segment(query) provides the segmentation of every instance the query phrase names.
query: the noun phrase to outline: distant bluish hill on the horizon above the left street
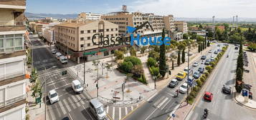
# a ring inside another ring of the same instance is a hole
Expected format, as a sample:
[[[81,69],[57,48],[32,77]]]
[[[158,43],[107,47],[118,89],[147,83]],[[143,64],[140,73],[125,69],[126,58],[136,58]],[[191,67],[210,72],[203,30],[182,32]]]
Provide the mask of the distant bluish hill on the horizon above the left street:
[[[78,14],[33,14],[25,12],[25,16],[29,19],[43,19],[45,17],[52,17],[54,19],[75,19]]]

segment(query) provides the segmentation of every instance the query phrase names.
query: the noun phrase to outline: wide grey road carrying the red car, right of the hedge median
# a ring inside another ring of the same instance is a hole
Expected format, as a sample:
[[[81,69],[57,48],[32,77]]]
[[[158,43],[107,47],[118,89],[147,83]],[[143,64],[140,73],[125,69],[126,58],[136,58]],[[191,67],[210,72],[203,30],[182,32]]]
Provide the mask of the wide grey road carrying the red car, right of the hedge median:
[[[232,86],[234,89],[235,82],[235,69],[237,63],[238,50],[234,50],[233,45],[229,45],[226,54],[229,58],[222,57],[217,64],[217,67],[212,72],[206,84],[206,90],[213,93],[213,101],[208,102],[202,99],[196,101],[196,106],[186,117],[187,120],[202,119],[203,111],[205,108],[209,109],[209,116],[207,119],[234,119],[234,120],[253,120],[256,119],[256,111],[245,108],[238,104],[233,99],[232,95],[222,93],[222,85]],[[226,56],[226,54],[224,56]]]

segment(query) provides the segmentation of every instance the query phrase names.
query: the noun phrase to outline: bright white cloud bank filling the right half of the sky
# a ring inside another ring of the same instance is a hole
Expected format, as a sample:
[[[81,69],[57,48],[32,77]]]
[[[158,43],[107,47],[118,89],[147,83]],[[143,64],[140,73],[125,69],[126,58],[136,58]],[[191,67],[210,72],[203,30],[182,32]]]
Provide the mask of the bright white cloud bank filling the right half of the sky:
[[[255,0],[138,0],[128,8],[131,11],[173,14],[176,17],[256,17]]]

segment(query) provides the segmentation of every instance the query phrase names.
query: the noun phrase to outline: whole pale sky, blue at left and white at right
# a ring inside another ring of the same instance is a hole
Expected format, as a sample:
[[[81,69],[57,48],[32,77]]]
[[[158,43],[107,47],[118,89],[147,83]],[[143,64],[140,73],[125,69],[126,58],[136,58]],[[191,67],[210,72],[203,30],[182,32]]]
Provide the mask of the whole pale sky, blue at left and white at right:
[[[156,15],[173,14],[188,18],[256,18],[256,0],[27,0],[27,12],[42,14],[107,14],[120,11],[141,11]]]

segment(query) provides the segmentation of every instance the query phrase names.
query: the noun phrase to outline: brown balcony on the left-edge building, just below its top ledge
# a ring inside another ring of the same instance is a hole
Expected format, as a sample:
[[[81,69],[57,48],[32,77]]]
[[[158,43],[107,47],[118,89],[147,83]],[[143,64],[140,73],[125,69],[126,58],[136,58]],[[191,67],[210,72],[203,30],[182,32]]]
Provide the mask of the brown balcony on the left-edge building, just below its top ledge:
[[[25,31],[26,21],[0,21],[0,31]]]

